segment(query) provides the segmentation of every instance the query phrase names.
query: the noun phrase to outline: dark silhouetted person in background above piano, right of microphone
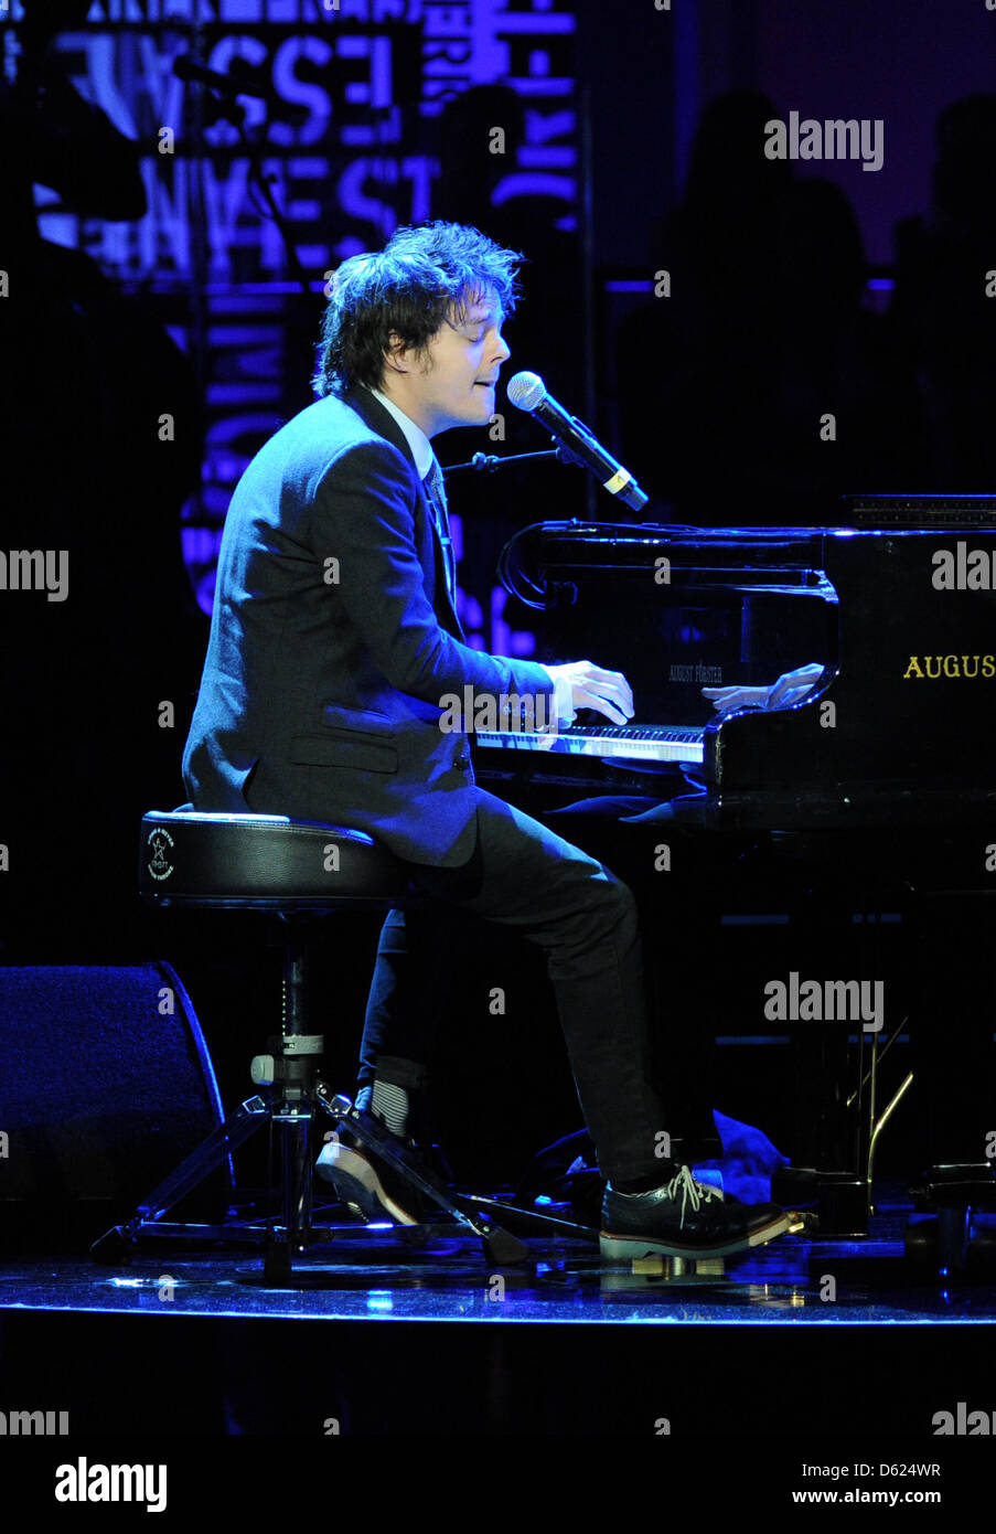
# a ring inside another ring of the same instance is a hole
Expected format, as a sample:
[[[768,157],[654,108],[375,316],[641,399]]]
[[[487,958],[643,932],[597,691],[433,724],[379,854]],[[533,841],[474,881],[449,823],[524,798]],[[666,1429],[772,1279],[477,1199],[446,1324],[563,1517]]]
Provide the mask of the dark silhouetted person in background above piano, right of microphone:
[[[755,91],[706,109],[660,230],[671,296],[619,327],[624,460],[696,525],[835,522],[844,492],[906,477],[915,436],[850,206],[766,158],[777,117]]]

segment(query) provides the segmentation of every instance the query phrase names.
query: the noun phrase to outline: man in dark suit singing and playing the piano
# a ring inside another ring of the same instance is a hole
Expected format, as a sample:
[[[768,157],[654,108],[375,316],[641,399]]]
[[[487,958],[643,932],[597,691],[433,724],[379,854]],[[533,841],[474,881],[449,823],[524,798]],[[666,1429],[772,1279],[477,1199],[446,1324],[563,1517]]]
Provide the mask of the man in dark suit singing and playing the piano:
[[[581,1108],[607,1180],[602,1253],[725,1255],[788,1227],[725,1200],[671,1149],[654,1071],[633,896],[601,862],[475,784],[440,700],[516,693],[561,721],[633,716],[624,675],[544,667],[464,643],[432,439],[486,426],[523,256],[477,229],[398,230],[333,282],[316,388],[245,471],[228,509],[208,653],[184,752],[199,810],[352,825],[432,899],[388,914],[357,1103],[417,1141],[432,1046],[420,965],[435,902],[538,943]],[[438,907],[435,907],[438,910]],[[343,1132],[319,1172],[369,1218],[418,1213],[411,1190]]]

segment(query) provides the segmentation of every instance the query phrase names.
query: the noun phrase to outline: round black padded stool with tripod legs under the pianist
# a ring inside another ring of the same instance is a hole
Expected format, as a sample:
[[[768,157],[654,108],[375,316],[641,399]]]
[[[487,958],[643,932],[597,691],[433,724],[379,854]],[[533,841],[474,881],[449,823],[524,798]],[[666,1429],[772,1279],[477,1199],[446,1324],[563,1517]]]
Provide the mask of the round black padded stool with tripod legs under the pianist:
[[[264,1282],[287,1284],[293,1255],[317,1239],[311,1227],[311,1129],[317,1108],[348,1126],[406,1181],[421,1189],[484,1244],[489,1262],[518,1262],[529,1253],[516,1236],[467,1207],[405,1149],[371,1114],[334,1095],[320,1078],[325,1042],[308,1029],[308,933],[316,917],[340,911],[388,911],[420,897],[405,865],[365,831],[282,815],[213,815],[181,805],[143,816],[138,882],[155,905],[193,910],[267,911],[280,933],[283,1006],[280,1031],[256,1055],[253,1081],[260,1095],[244,1101],[224,1124],[138,1206],[90,1247],[98,1262],[127,1262],[143,1229],[159,1235],[245,1243],[265,1247]],[[165,1215],[224,1158],[264,1124],[277,1131],[282,1212],[265,1229],[247,1226],[165,1226]]]

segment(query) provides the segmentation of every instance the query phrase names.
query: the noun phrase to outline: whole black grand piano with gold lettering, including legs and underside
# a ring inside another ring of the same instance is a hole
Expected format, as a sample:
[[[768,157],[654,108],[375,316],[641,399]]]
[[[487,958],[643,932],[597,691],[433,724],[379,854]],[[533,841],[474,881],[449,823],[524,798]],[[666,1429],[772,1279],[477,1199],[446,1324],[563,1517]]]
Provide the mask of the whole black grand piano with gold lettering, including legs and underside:
[[[481,730],[473,758],[483,787],[556,813],[568,839],[582,841],[572,805],[605,799],[657,845],[697,838],[700,865],[706,848],[729,845],[742,862],[763,845],[786,900],[800,867],[852,911],[906,900],[909,1011],[893,1009],[881,1039],[858,1034],[850,1078],[832,1089],[846,1031],[800,1049],[800,1138],[821,1210],[861,1229],[878,1131],[910,1088],[883,1114],[876,1072],[901,1028],[916,1045],[927,1207],[991,1198],[996,514],[988,497],[847,509],[853,525],[840,528],[524,528],[500,574],[539,615],[535,658],[621,670],[636,713],[625,727],[582,712],[556,733]],[[717,715],[702,692],[814,663],[814,690],[792,707]],[[846,959],[873,962],[867,948]],[[834,1180],[860,1197],[834,1206]]]

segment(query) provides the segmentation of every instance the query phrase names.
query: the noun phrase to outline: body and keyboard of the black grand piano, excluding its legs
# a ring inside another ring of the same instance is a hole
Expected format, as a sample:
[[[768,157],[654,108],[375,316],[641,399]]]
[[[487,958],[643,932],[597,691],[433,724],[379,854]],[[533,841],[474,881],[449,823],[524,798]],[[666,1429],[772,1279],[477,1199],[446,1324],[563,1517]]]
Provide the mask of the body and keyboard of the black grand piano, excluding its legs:
[[[636,716],[588,713],[552,738],[483,732],[477,746],[599,762],[602,785],[611,770],[682,764],[703,792],[680,813],[717,828],[987,824],[996,595],[935,584],[958,580],[959,545],[976,588],[976,552],[996,584],[996,528],[527,528],[503,574],[544,614],[536,658],[622,670]],[[945,551],[952,566],[935,565]],[[716,716],[702,695],[812,661],[823,678],[791,709]]]

